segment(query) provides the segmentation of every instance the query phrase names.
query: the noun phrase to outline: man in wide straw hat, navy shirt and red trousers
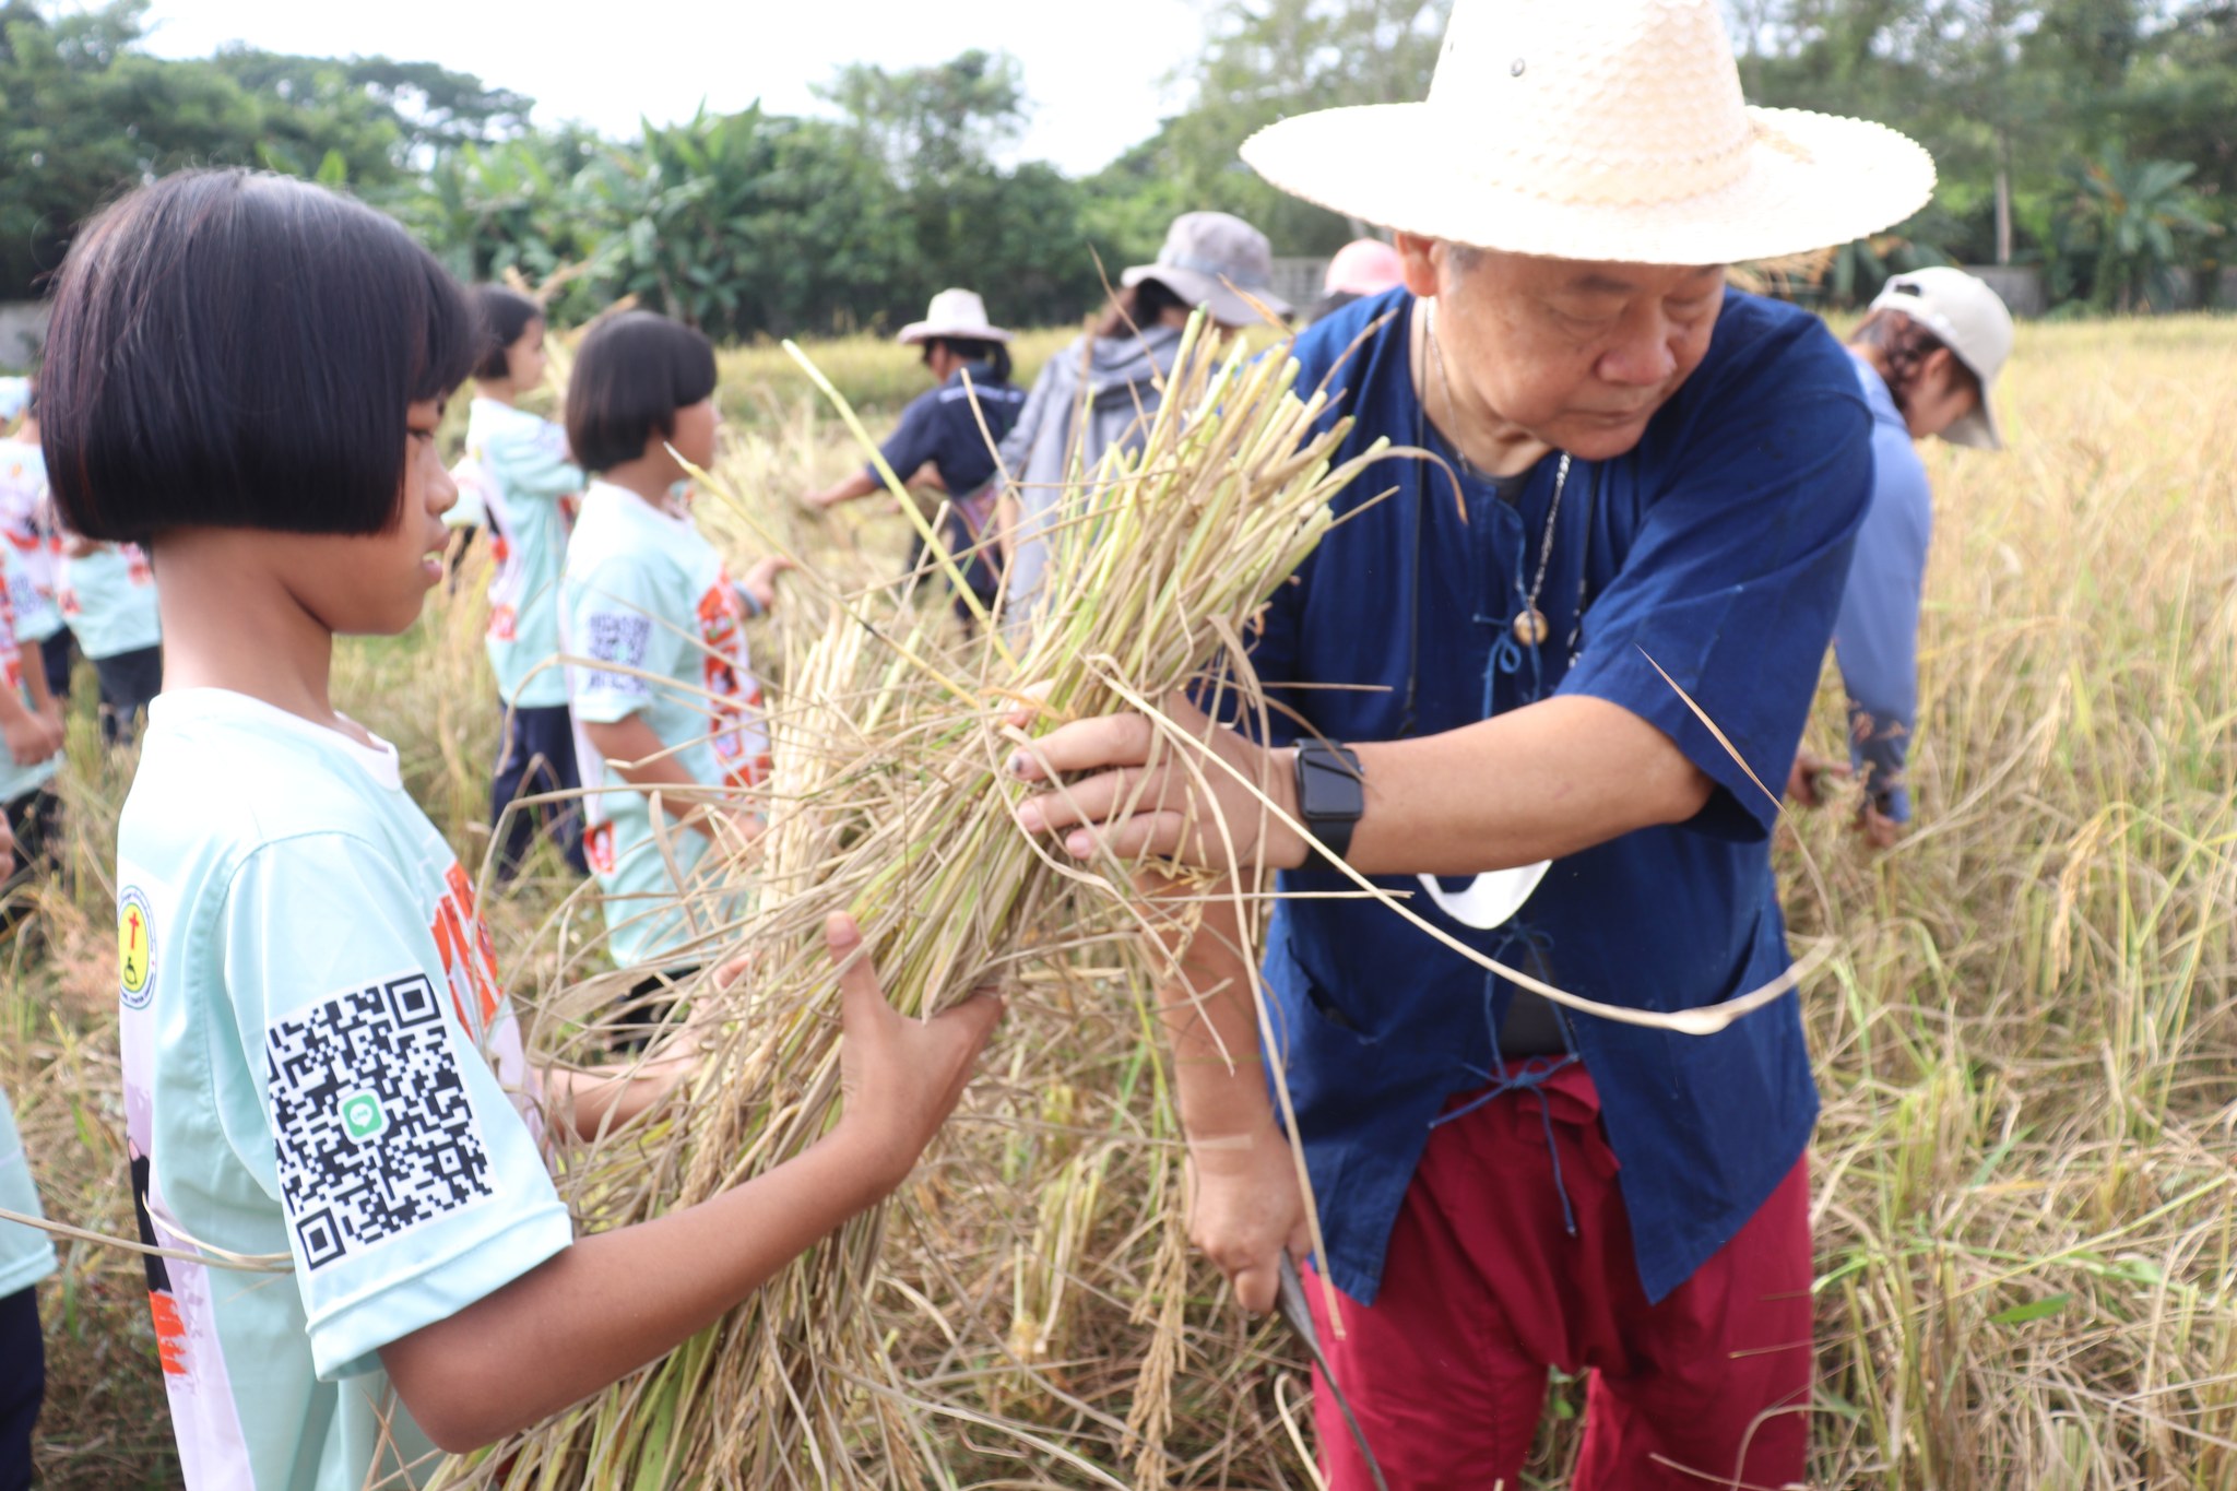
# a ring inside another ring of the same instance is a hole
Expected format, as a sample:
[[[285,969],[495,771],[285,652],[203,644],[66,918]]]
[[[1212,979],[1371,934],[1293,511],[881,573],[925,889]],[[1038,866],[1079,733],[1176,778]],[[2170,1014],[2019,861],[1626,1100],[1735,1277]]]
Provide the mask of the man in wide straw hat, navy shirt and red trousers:
[[[1221,814],[1304,892],[1266,934],[1264,1037],[1338,1294],[1306,1292],[1389,1484],[1519,1484],[1548,1368],[1593,1373],[1577,1487],[1796,1482],[1816,1093],[1799,1001],[1772,997],[1765,785],[1816,686],[1872,420],[1825,329],[1722,266],[1884,228],[1933,163],[1747,107],[1716,0],[1459,0],[1427,103],[1291,118],[1244,159],[1396,230],[1405,288],[1304,333],[1300,382],[1342,391],[1344,454],[1429,456],[1353,483],[1268,604],[1271,738],[1195,715],[1280,816],[1121,715],[1018,758],[1092,773],[1027,823],[1217,867]],[[1327,894],[1351,881],[1322,852],[1622,1019]],[[1163,993],[1190,1227],[1264,1310],[1309,1209],[1264,1073],[1224,1055],[1262,1026],[1237,919],[1206,905]],[[1716,1035],[1662,1019],[1749,990],[1769,1001]],[[1371,1484],[1329,1399],[1329,1480]]]

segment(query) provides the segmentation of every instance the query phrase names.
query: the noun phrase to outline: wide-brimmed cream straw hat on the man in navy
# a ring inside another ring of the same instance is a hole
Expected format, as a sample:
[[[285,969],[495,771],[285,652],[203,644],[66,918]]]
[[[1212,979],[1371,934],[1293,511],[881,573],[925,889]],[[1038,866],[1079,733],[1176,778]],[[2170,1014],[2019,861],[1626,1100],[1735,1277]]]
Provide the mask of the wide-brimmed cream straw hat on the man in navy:
[[[1454,0],[1427,103],[1300,114],[1242,154],[1362,221],[1622,264],[1848,244],[1935,186],[1886,125],[1747,107],[1716,0]]]

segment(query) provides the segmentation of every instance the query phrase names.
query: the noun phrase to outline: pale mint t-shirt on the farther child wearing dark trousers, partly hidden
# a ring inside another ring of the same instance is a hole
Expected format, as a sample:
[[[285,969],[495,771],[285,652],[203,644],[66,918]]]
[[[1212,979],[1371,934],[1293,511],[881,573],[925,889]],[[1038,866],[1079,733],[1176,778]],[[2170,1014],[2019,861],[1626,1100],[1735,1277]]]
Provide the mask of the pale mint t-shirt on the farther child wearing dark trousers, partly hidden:
[[[559,570],[566,563],[564,498],[582,492],[582,472],[566,458],[566,431],[550,420],[476,398],[465,416],[468,487],[490,525],[490,671],[497,697],[517,709],[566,704],[559,657]]]

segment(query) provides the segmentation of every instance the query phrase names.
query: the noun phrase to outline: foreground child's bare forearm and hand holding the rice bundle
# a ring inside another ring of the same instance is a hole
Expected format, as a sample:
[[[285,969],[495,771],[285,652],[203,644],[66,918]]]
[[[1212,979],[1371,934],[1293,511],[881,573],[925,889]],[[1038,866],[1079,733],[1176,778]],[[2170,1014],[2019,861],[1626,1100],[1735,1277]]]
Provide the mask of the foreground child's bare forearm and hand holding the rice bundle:
[[[899,1187],[962,1095],[1000,1015],[980,995],[928,1022],[879,990],[855,923],[825,928],[841,966],[839,1127],[812,1149],[685,1212],[582,1238],[380,1361],[452,1453],[537,1424],[714,1323],[839,1223]],[[535,1364],[535,1370],[521,1370]]]

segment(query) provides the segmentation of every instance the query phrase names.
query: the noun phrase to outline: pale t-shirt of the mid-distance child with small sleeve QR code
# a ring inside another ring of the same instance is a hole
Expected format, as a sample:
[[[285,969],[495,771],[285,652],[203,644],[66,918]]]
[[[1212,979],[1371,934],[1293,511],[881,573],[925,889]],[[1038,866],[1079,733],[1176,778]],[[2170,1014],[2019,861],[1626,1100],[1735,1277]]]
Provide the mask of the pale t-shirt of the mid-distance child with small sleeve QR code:
[[[582,726],[640,715],[696,782],[763,780],[770,731],[745,648],[745,601],[689,512],[660,512],[593,481],[568,539],[564,606],[568,655],[586,664],[568,668],[568,704],[593,789],[584,854],[604,892],[608,950],[622,968],[698,963],[689,943],[702,925],[680,910],[678,892],[696,887],[707,838],[667,823],[662,854],[651,798],[606,767]],[[673,798],[669,818],[691,807]]]

